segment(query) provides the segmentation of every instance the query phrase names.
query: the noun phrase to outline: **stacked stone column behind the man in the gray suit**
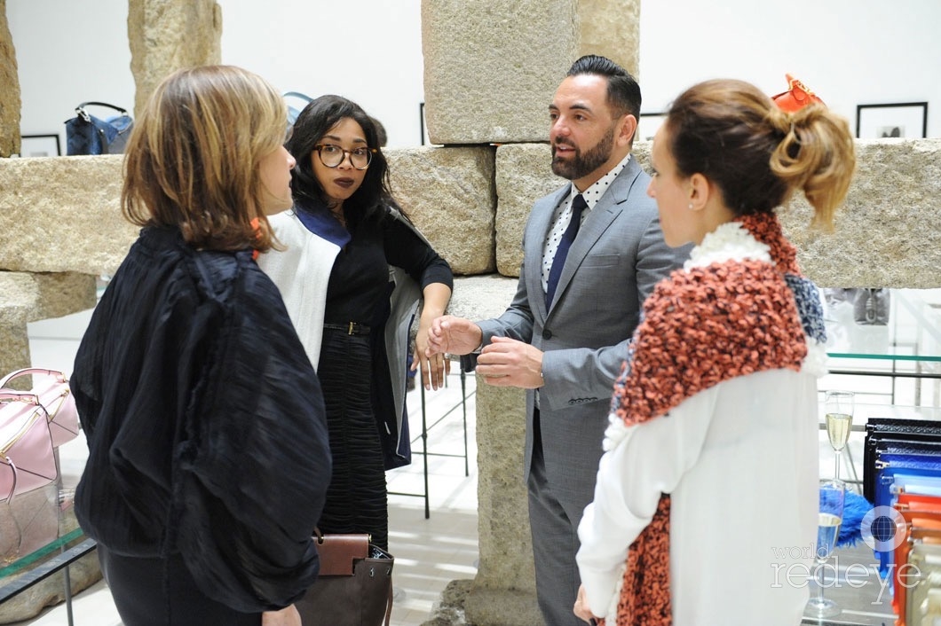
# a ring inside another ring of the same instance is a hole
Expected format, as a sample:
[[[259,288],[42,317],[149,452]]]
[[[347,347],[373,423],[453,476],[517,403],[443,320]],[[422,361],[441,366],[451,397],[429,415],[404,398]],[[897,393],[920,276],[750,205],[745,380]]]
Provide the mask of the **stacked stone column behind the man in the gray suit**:
[[[572,61],[605,55],[636,73],[639,18],[640,0],[423,0],[429,138],[445,145],[547,141],[548,105]],[[551,176],[545,145],[497,150],[494,249],[501,274],[518,275],[533,202],[563,182]],[[458,289],[455,300],[463,301]],[[464,603],[477,626],[542,623],[522,484],[524,398],[519,390],[477,386],[480,567]]]

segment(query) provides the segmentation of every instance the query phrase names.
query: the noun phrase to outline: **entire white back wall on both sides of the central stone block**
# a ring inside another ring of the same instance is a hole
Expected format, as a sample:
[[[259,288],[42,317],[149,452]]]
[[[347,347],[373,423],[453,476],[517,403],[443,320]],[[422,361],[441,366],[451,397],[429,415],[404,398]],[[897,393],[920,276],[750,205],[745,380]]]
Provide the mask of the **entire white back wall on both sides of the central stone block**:
[[[346,96],[383,121],[391,147],[419,143],[421,0],[218,2],[224,63],[282,91]],[[61,133],[85,100],[133,107],[126,0],[7,0],[7,13],[22,133]],[[774,94],[790,72],[853,128],[857,104],[927,101],[928,134],[941,136],[939,26],[938,0],[643,0],[644,109],[718,76]]]

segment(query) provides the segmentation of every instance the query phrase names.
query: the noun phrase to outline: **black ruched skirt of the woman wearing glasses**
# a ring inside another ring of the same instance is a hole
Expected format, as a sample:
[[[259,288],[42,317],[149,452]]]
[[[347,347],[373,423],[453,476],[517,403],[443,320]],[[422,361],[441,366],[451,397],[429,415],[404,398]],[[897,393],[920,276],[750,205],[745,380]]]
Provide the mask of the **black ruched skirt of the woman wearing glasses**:
[[[317,524],[324,533],[369,533],[389,549],[386,470],[371,399],[368,335],[324,329],[317,377],[327,405],[333,474]]]

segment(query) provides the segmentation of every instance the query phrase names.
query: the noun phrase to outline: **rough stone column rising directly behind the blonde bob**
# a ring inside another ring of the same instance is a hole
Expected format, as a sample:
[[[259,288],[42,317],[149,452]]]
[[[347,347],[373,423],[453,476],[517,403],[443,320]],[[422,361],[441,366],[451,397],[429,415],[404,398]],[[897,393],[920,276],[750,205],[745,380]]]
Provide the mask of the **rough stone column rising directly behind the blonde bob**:
[[[215,0],[129,0],[127,35],[139,113],[167,74],[222,58],[222,8]]]

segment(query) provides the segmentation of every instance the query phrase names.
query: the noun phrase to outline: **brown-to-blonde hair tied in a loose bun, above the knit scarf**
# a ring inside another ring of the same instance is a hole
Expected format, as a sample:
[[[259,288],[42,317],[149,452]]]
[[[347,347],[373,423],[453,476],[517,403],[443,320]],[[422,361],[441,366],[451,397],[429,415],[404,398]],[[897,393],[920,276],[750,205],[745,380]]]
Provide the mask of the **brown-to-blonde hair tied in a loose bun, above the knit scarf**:
[[[717,79],[680,94],[665,123],[678,173],[703,174],[736,215],[774,211],[801,189],[814,226],[833,227],[856,157],[849,123],[825,105],[786,113],[756,86]]]

